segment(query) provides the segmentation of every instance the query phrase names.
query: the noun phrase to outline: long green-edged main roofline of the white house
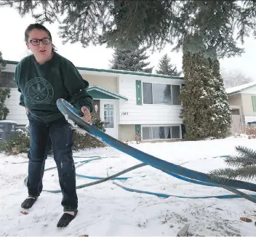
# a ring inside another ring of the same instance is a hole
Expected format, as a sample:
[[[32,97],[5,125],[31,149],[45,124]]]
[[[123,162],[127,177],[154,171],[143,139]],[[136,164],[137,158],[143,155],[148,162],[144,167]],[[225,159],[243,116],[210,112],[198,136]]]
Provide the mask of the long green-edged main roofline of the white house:
[[[19,63],[17,61],[9,61],[9,60],[4,60],[4,61],[7,64],[13,64],[13,65],[17,65]],[[81,67],[76,67],[76,68],[78,70],[82,70],[82,71],[98,71],[98,72],[104,72],[104,73],[129,74],[129,75],[137,75],[137,76],[153,76],[153,77],[161,77],[161,78],[165,78],[165,79],[181,79],[181,80],[183,80],[183,77],[180,77],[180,76],[168,76],[168,75],[143,73],[143,72],[136,72],[136,71],[122,71],[122,70],[113,70],[113,69],[81,68]]]

